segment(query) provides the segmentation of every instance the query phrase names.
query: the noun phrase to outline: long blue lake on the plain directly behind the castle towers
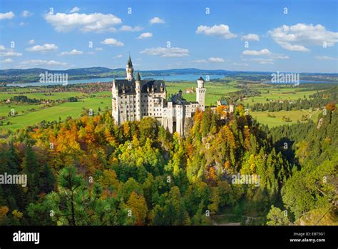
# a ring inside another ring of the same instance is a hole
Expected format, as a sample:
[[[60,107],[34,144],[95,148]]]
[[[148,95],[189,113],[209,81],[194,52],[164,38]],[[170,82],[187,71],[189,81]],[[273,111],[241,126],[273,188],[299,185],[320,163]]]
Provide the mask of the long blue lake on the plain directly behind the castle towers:
[[[142,79],[146,78],[153,78],[153,79],[163,79],[165,81],[197,81],[198,78],[202,76],[204,79],[207,75],[197,75],[197,74],[177,74],[177,75],[167,75],[167,76],[144,76]],[[209,74],[208,75],[211,79],[216,78],[224,78],[225,75],[220,74]],[[78,83],[96,83],[96,82],[110,82],[113,81],[114,78],[88,78],[88,79],[81,79],[81,80],[71,80],[68,81],[69,85],[78,84]],[[123,79],[123,78],[116,78],[116,79]],[[41,82],[34,82],[34,83],[9,83],[6,84],[7,86],[53,86],[53,85],[62,85],[62,83],[41,83]]]

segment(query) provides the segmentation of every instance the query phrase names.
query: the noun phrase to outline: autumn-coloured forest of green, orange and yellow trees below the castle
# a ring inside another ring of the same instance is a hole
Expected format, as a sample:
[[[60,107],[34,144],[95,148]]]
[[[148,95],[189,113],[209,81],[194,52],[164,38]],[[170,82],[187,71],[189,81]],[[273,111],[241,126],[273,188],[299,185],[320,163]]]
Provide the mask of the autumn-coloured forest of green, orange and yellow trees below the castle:
[[[0,173],[25,173],[28,185],[0,185],[0,224],[338,224],[333,107],[320,126],[271,130],[243,106],[222,115],[196,113],[186,138],[152,118],[116,126],[108,111],[3,131]],[[259,184],[237,184],[237,173]]]

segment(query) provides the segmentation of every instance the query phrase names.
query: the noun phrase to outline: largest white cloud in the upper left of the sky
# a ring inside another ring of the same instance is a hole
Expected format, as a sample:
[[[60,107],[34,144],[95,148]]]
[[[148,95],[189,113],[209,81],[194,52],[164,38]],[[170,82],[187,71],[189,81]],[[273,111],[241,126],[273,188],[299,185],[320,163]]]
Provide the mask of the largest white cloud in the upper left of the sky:
[[[114,32],[116,28],[114,27],[116,24],[121,24],[122,21],[118,17],[113,14],[102,14],[102,13],[94,13],[94,14],[65,14],[65,13],[57,13],[46,14],[46,21],[50,23],[56,31],[66,32],[71,31],[73,29],[78,29],[83,33],[87,32]]]

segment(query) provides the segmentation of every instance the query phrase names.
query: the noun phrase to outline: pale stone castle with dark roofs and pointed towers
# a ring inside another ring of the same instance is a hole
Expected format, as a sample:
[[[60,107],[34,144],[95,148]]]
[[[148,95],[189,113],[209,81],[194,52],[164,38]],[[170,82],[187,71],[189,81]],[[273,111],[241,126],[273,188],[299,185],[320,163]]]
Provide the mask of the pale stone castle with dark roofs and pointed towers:
[[[112,93],[112,116],[116,124],[126,121],[140,121],[143,117],[152,117],[170,133],[178,132],[185,136],[193,121],[197,108],[205,111],[205,87],[202,77],[198,78],[196,101],[186,101],[182,91],[170,96],[163,80],[143,79],[140,73],[133,77],[133,63],[128,59],[126,79],[114,79]]]

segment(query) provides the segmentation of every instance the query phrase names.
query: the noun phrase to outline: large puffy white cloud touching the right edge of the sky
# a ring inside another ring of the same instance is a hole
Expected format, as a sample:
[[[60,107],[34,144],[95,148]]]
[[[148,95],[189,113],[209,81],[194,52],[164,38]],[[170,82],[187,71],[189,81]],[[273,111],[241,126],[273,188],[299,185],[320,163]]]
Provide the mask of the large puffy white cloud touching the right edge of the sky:
[[[283,25],[268,31],[275,43],[290,51],[307,52],[307,46],[334,46],[338,42],[338,32],[327,31],[321,24]]]

